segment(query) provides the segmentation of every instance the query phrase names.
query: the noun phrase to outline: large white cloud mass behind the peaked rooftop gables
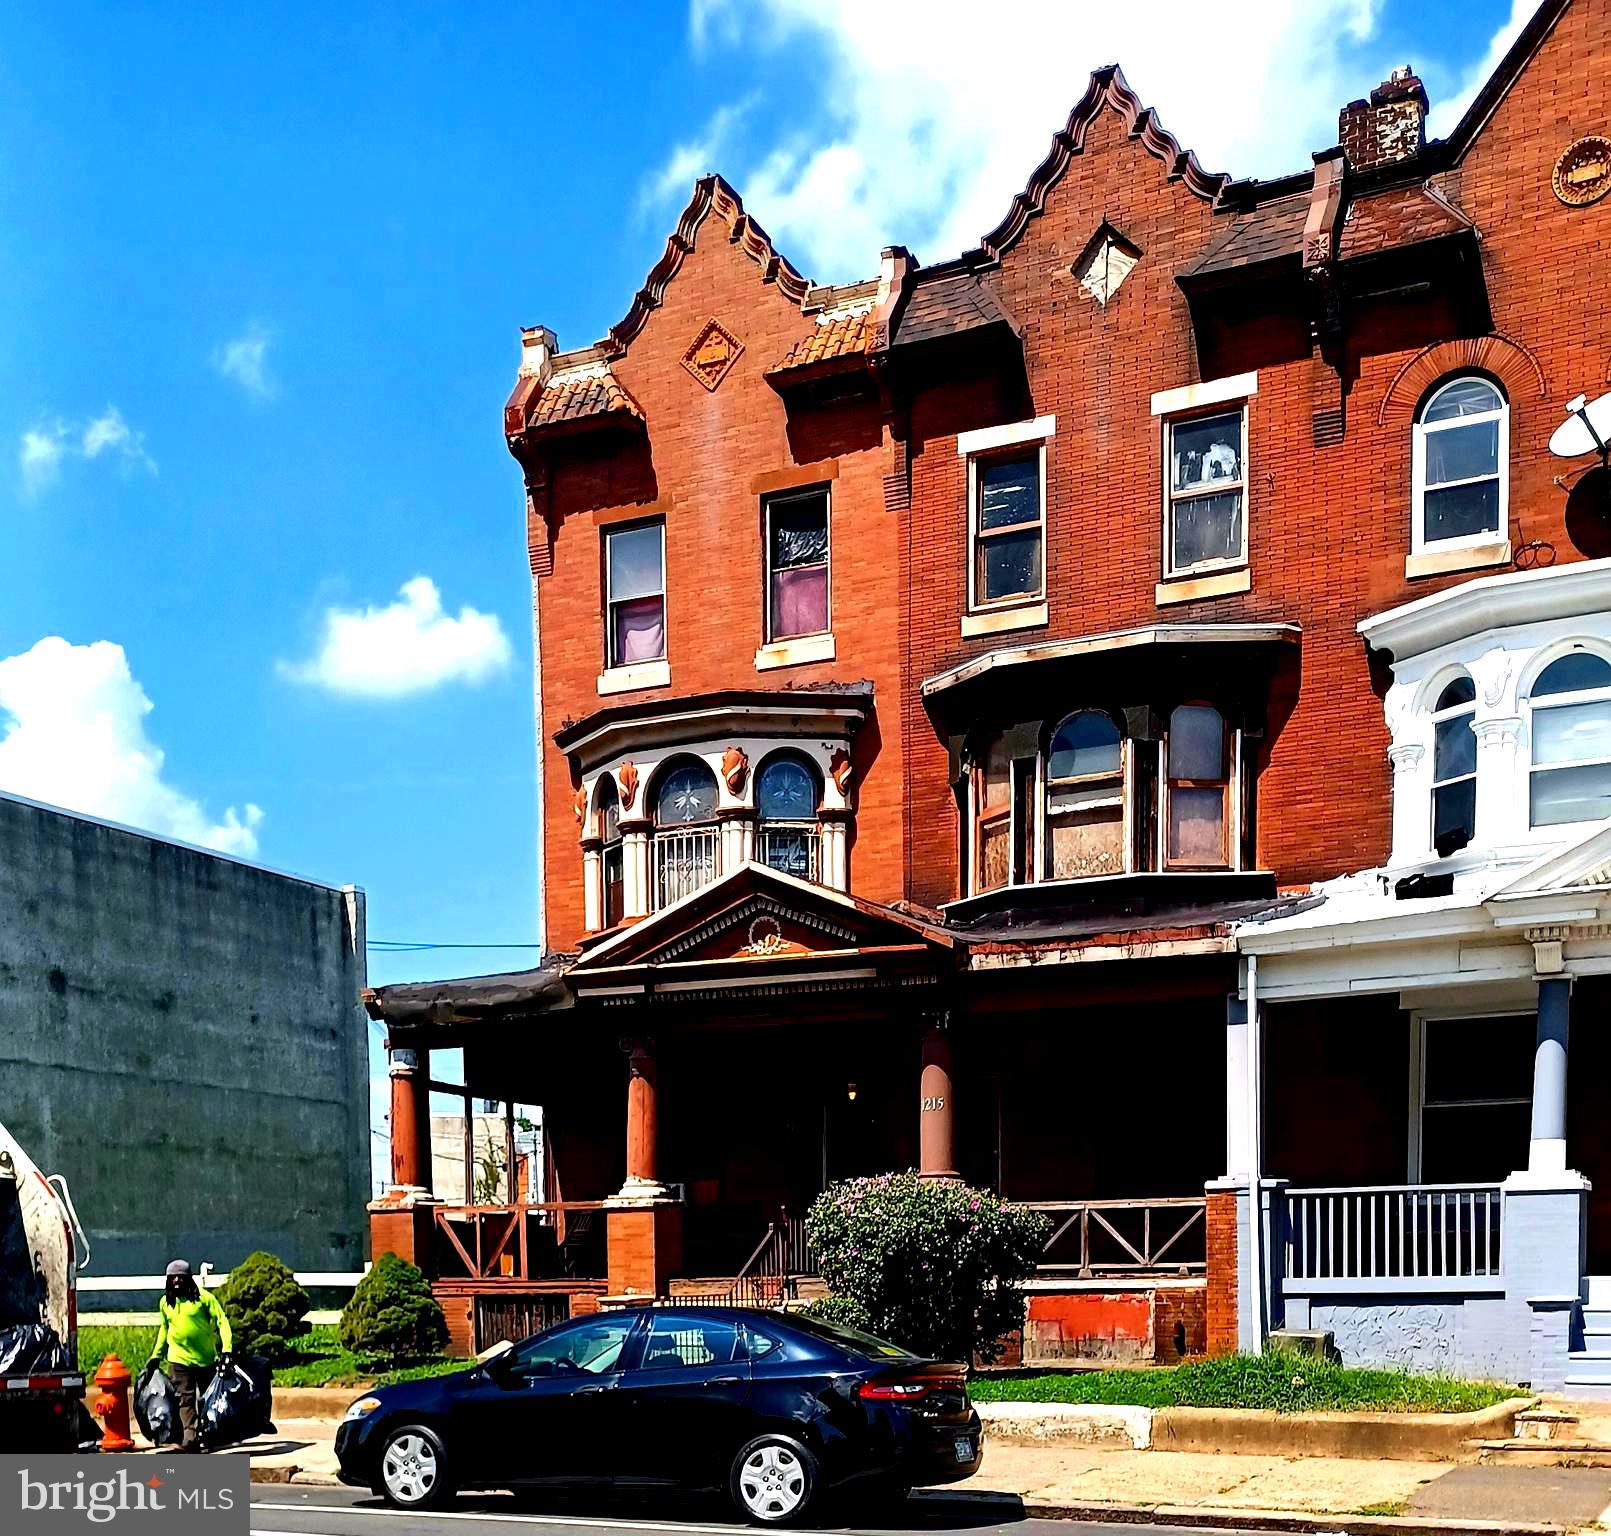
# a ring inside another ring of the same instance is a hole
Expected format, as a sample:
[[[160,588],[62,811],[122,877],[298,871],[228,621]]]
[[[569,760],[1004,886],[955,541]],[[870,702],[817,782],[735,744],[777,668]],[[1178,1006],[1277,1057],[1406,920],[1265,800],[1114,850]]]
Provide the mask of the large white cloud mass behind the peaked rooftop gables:
[[[872,276],[891,242],[925,261],[975,245],[1105,63],[1124,66],[1207,169],[1303,169],[1311,150],[1336,142],[1339,106],[1385,73],[1361,56],[1376,10],[1377,0],[999,0],[981,24],[973,0],[693,0],[690,27],[696,47],[810,60],[802,77],[825,103],[826,129],[785,131],[728,176],[783,250],[812,276],[843,280]]]

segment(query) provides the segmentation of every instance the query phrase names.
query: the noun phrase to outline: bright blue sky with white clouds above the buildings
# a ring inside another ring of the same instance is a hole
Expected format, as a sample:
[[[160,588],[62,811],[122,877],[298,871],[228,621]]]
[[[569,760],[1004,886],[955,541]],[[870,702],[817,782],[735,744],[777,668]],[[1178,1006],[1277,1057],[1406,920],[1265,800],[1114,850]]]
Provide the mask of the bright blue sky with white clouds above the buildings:
[[[1394,64],[1447,131],[1530,5],[1097,10],[8,6],[0,787],[535,938],[519,326],[594,340],[704,169],[814,277],[952,255],[1112,58],[1239,176]]]

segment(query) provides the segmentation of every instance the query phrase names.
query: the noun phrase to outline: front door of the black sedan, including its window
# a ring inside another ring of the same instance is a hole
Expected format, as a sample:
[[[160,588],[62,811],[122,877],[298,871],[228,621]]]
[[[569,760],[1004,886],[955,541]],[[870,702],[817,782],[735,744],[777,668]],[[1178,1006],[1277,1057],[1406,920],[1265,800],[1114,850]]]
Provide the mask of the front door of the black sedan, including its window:
[[[593,1480],[611,1475],[635,1314],[609,1314],[549,1328],[499,1355],[472,1386],[449,1446],[466,1481]]]

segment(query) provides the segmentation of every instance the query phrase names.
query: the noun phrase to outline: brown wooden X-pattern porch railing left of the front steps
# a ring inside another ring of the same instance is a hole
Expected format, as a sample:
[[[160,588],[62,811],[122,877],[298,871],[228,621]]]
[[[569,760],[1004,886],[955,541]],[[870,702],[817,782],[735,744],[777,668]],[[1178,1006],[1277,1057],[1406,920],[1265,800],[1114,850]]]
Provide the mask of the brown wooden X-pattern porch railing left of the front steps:
[[[603,1201],[438,1206],[440,1278],[603,1278]]]

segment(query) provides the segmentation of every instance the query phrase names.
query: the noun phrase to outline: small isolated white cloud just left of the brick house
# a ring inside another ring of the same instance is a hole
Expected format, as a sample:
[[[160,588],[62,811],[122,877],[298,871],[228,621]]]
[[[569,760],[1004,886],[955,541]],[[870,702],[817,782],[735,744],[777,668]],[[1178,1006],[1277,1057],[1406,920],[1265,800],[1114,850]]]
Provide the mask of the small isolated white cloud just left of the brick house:
[[[359,698],[401,698],[443,683],[478,683],[509,666],[496,614],[461,608],[453,617],[429,575],[403,583],[385,608],[330,608],[308,661],[280,662],[300,683]]]

